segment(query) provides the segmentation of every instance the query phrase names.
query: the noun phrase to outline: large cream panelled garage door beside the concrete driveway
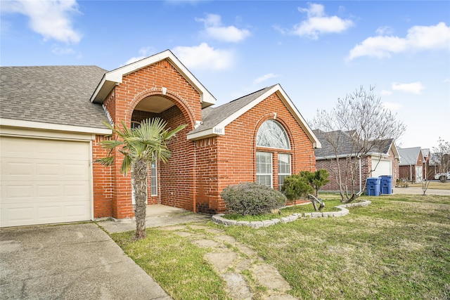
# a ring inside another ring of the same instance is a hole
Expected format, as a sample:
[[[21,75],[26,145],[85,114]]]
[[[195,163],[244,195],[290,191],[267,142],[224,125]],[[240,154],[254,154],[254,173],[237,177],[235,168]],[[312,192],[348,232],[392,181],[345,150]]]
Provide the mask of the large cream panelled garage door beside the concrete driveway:
[[[0,136],[0,227],[91,219],[90,144]]]

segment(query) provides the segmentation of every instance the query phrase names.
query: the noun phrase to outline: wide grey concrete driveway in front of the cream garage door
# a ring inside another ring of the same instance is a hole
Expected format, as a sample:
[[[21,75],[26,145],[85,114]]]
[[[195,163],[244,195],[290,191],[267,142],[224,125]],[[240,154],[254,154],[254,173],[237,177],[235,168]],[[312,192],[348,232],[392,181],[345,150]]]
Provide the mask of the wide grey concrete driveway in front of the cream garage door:
[[[2,228],[0,299],[172,299],[95,223]]]

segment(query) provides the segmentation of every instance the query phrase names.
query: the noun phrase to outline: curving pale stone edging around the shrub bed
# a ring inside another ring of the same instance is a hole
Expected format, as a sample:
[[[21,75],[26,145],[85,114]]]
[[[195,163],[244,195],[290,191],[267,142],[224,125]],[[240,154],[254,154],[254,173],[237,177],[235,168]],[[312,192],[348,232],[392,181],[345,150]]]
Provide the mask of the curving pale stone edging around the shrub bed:
[[[349,210],[347,209],[347,207],[367,207],[368,204],[371,203],[372,202],[369,200],[364,200],[364,202],[340,204],[336,207],[340,209],[340,211],[326,211],[326,212],[315,211],[300,214],[295,213],[291,214],[290,216],[283,216],[280,219],[270,219],[264,221],[236,221],[222,218],[222,216],[224,216],[225,214],[214,214],[214,216],[212,216],[212,221],[214,223],[222,224],[224,226],[248,226],[251,228],[261,228],[272,226],[278,223],[289,223],[297,219],[304,219],[304,218],[328,218],[331,216],[347,216],[347,214],[349,214]]]

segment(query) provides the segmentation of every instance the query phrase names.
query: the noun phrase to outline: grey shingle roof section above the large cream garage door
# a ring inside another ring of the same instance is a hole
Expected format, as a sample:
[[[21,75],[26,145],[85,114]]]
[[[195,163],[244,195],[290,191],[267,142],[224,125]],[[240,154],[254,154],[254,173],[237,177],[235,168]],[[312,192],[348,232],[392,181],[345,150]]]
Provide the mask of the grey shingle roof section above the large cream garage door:
[[[110,132],[101,123],[108,120],[101,105],[89,101],[106,72],[100,67],[0,67],[0,72],[2,125]]]

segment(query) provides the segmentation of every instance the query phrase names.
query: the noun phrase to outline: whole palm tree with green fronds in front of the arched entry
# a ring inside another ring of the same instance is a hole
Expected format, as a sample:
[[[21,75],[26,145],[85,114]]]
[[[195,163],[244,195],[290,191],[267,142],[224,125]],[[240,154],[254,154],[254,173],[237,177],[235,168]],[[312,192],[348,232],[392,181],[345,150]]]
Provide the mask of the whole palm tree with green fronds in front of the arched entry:
[[[110,149],[107,157],[96,159],[96,162],[104,166],[110,166],[114,162],[113,150],[120,147],[119,152],[124,155],[120,173],[127,174],[131,171],[133,178],[134,200],[136,207],[134,215],[136,217],[136,239],[146,237],[146,200],[148,185],[148,165],[153,161],[166,163],[171,152],[167,148],[167,141],[174,137],[176,133],[186,127],[181,125],[169,131],[165,129],[167,123],[160,118],[147,119],[141,122],[139,127],[128,129],[122,122],[122,128],[111,126],[104,122],[117,138],[113,141],[102,141],[103,148]]]

